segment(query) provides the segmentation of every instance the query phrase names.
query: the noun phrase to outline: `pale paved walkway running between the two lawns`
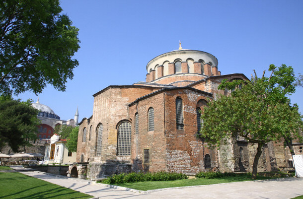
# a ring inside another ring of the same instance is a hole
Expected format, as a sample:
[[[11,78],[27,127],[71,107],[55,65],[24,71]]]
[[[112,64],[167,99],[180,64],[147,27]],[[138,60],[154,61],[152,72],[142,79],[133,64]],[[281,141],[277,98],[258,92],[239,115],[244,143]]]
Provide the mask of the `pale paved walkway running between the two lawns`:
[[[265,181],[169,188],[140,194],[109,188],[102,184],[92,184],[88,180],[58,177],[39,171],[24,170],[17,166],[11,167],[25,175],[101,199],[290,199],[303,195],[303,178],[281,178]]]

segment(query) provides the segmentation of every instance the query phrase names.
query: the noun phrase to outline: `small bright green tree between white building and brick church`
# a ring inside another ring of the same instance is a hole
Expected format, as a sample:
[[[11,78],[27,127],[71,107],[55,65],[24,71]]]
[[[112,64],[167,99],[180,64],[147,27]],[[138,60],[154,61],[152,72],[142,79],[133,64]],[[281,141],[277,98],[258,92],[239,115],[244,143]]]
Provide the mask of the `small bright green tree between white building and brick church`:
[[[55,128],[55,132],[61,136],[63,139],[67,139],[67,147],[69,151],[76,152],[77,151],[77,143],[78,143],[78,131],[79,127],[73,126],[57,126]]]

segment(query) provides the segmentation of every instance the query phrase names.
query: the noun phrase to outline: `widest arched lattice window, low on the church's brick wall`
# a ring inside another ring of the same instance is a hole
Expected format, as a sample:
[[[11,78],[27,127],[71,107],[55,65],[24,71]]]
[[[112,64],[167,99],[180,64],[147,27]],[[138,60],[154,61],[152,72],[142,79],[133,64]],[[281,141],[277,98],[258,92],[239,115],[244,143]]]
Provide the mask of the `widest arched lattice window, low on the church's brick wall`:
[[[131,155],[131,133],[132,126],[128,122],[119,125],[117,155]]]

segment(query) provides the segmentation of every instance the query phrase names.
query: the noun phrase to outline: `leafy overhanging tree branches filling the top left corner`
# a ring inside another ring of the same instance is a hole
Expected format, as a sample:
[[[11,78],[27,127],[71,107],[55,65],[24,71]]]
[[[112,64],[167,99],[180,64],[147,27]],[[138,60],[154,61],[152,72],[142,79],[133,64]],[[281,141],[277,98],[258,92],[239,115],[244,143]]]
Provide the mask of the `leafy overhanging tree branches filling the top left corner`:
[[[47,84],[65,91],[72,59],[79,49],[78,29],[59,0],[0,2],[0,93],[41,93]]]

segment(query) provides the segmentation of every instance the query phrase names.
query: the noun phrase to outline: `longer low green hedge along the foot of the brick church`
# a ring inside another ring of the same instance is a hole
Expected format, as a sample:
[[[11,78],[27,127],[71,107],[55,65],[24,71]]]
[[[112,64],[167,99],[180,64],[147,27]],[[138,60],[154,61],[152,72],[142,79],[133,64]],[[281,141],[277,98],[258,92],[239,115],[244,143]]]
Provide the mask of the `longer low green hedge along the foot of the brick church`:
[[[103,183],[108,184],[122,184],[122,183],[135,183],[135,182],[145,182],[145,181],[171,181],[171,180],[181,180],[187,179],[185,174],[181,173],[168,173],[168,172],[156,172],[156,173],[129,173],[129,174],[115,174],[107,177]]]

